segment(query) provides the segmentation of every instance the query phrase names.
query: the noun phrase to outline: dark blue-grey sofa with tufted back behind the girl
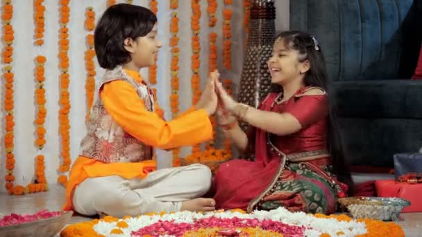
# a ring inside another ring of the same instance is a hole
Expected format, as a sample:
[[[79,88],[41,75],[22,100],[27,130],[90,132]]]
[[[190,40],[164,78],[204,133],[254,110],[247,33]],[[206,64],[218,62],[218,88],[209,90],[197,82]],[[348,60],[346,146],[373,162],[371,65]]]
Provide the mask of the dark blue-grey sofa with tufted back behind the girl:
[[[352,166],[392,168],[395,153],[419,150],[422,0],[291,0],[290,29],[321,44]]]

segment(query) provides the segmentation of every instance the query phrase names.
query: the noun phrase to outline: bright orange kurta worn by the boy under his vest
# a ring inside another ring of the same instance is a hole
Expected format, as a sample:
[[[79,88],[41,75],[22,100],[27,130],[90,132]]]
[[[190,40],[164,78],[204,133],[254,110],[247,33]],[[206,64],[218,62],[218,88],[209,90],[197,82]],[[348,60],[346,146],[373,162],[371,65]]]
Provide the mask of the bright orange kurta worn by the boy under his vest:
[[[126,70],[129,76],[142,83],[137,71]],[[154,148],[171,149],[191,146],[212,139],[212,125],[204,109],[194,107],[166,122],[158,114],[149,112],[137,91],[123,80],[103,85],[100,98],[105,109],[121,128],[136,139]],[[155,101],[155,106],[158,106]],[[89,157],[79,156],[74,162],[66,187],[65,210],[73,210],[74,188],[88,177],[119,175],[124,179],[146,177],[155,170],[154,160],[136,163],[103,163]]]

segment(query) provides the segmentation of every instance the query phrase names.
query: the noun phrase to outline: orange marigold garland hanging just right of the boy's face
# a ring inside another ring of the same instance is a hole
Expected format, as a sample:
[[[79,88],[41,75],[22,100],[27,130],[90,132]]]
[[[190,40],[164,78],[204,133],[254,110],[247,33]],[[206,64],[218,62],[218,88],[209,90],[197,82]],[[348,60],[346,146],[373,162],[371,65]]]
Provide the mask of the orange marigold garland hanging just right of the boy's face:
[[[171,46],[171,95],[170,95],[170,106],[171,112],[173,112],[173,117],[179,112],[179,97],[178,97],[178,89],[179,89],[179,78],[178,78],[178,70],[179,70],[179,48],[178,48],[178,23],[179,18],[177,15],[177,8],[178,8],[178,0],[170,0],[170,9],[172,11],[171,15],[171,23],[170,23],[170,46]],[[180,148],[173,149],[173,159],[179,159]]]

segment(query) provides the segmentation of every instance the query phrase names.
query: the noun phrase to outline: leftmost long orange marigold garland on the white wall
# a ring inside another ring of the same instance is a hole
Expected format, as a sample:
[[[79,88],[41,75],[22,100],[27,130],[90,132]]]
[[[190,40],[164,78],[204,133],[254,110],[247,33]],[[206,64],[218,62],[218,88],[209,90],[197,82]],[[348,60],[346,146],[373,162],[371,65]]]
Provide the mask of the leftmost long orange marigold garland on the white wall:
[[[3,68],[5,71],[3,73],[4,82],[4,110],[5,110],[5,121],[6,121],[6,134],[4,135],[4,148],[6,152],[6,189],[9,194],[12,194],[14,189],[13,182],[15,181],[15,176],[13,176],[13,169],[15,168],[15,155],[13,154],[14,149],[14,116],[13,108],[14,105],[14,92],[13,92],[13,82],[15,74],[12,72],[12,66],[10,63],[13,58],[13,40],[15,40],[13,26],[11,24],[13,17],[13,5],[11,0],[4,1],[3,5],[3,40],[6,46],[3,49],[2,61],[6,66]]]

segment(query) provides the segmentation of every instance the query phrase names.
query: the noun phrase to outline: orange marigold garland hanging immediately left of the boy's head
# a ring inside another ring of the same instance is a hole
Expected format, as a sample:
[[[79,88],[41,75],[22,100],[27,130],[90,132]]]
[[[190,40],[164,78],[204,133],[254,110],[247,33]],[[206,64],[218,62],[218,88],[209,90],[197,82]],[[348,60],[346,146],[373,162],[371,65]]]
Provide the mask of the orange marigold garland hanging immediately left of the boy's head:
[[[95,12],[92,7],[87,8],[86,10],[86,19],[85,19],[85,29],[90,32],[87,37],[87,51],[85,51],[85,62],[87,70],[87,80],[85,82],[85,91],[87,94],[87,116],[90,115],[90,109],[94,101],[94,91],[95,91],[95,50],[94,50],[94,34],[92,30],[95,28]]]

